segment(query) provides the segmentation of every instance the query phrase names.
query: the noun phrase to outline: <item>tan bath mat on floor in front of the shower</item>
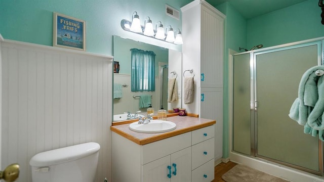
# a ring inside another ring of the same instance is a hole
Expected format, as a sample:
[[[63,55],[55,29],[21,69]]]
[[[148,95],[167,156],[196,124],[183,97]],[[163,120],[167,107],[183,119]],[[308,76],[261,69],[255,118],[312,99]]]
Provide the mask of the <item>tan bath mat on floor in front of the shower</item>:
[[[265,172],[253,169],[246,165],[237,164],[232,169],[222,175],[226,182],[286,182],[288,180],[267,174]]]

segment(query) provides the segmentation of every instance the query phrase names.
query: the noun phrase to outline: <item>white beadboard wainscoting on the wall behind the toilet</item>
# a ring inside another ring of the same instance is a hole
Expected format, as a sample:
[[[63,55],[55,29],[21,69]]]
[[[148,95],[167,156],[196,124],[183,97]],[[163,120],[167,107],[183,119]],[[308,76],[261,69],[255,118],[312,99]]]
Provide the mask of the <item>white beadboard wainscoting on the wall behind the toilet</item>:
[[[2,42],[2,166],[39,152],[100,144],[96,181],[111,181],[112,57],[43,45]]]

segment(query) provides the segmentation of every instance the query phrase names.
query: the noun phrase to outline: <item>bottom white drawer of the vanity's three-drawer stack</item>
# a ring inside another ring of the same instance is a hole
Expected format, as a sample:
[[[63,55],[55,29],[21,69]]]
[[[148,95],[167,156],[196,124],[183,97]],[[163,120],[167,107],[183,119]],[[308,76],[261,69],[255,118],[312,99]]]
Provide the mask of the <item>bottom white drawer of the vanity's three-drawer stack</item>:
[[[206,164],[196,168],[191,172],[191,181],[212,181],[214,176],[214,160],[208,161]]]

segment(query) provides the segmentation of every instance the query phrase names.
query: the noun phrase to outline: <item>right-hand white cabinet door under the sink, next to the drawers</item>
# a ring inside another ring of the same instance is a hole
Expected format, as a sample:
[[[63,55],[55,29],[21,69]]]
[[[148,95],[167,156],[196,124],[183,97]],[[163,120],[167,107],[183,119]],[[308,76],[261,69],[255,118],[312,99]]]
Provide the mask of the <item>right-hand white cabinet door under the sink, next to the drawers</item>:
[[[191,147],[171,154],[172,182],[191,181]]]

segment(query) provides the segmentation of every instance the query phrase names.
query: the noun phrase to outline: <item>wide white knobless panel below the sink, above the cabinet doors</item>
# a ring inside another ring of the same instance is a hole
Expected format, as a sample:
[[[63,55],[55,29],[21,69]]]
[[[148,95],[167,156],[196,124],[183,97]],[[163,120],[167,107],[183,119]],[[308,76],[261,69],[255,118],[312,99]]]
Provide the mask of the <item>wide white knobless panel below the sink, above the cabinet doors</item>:
[[[191,132],[142,146],[142,165],[191,146]]]

